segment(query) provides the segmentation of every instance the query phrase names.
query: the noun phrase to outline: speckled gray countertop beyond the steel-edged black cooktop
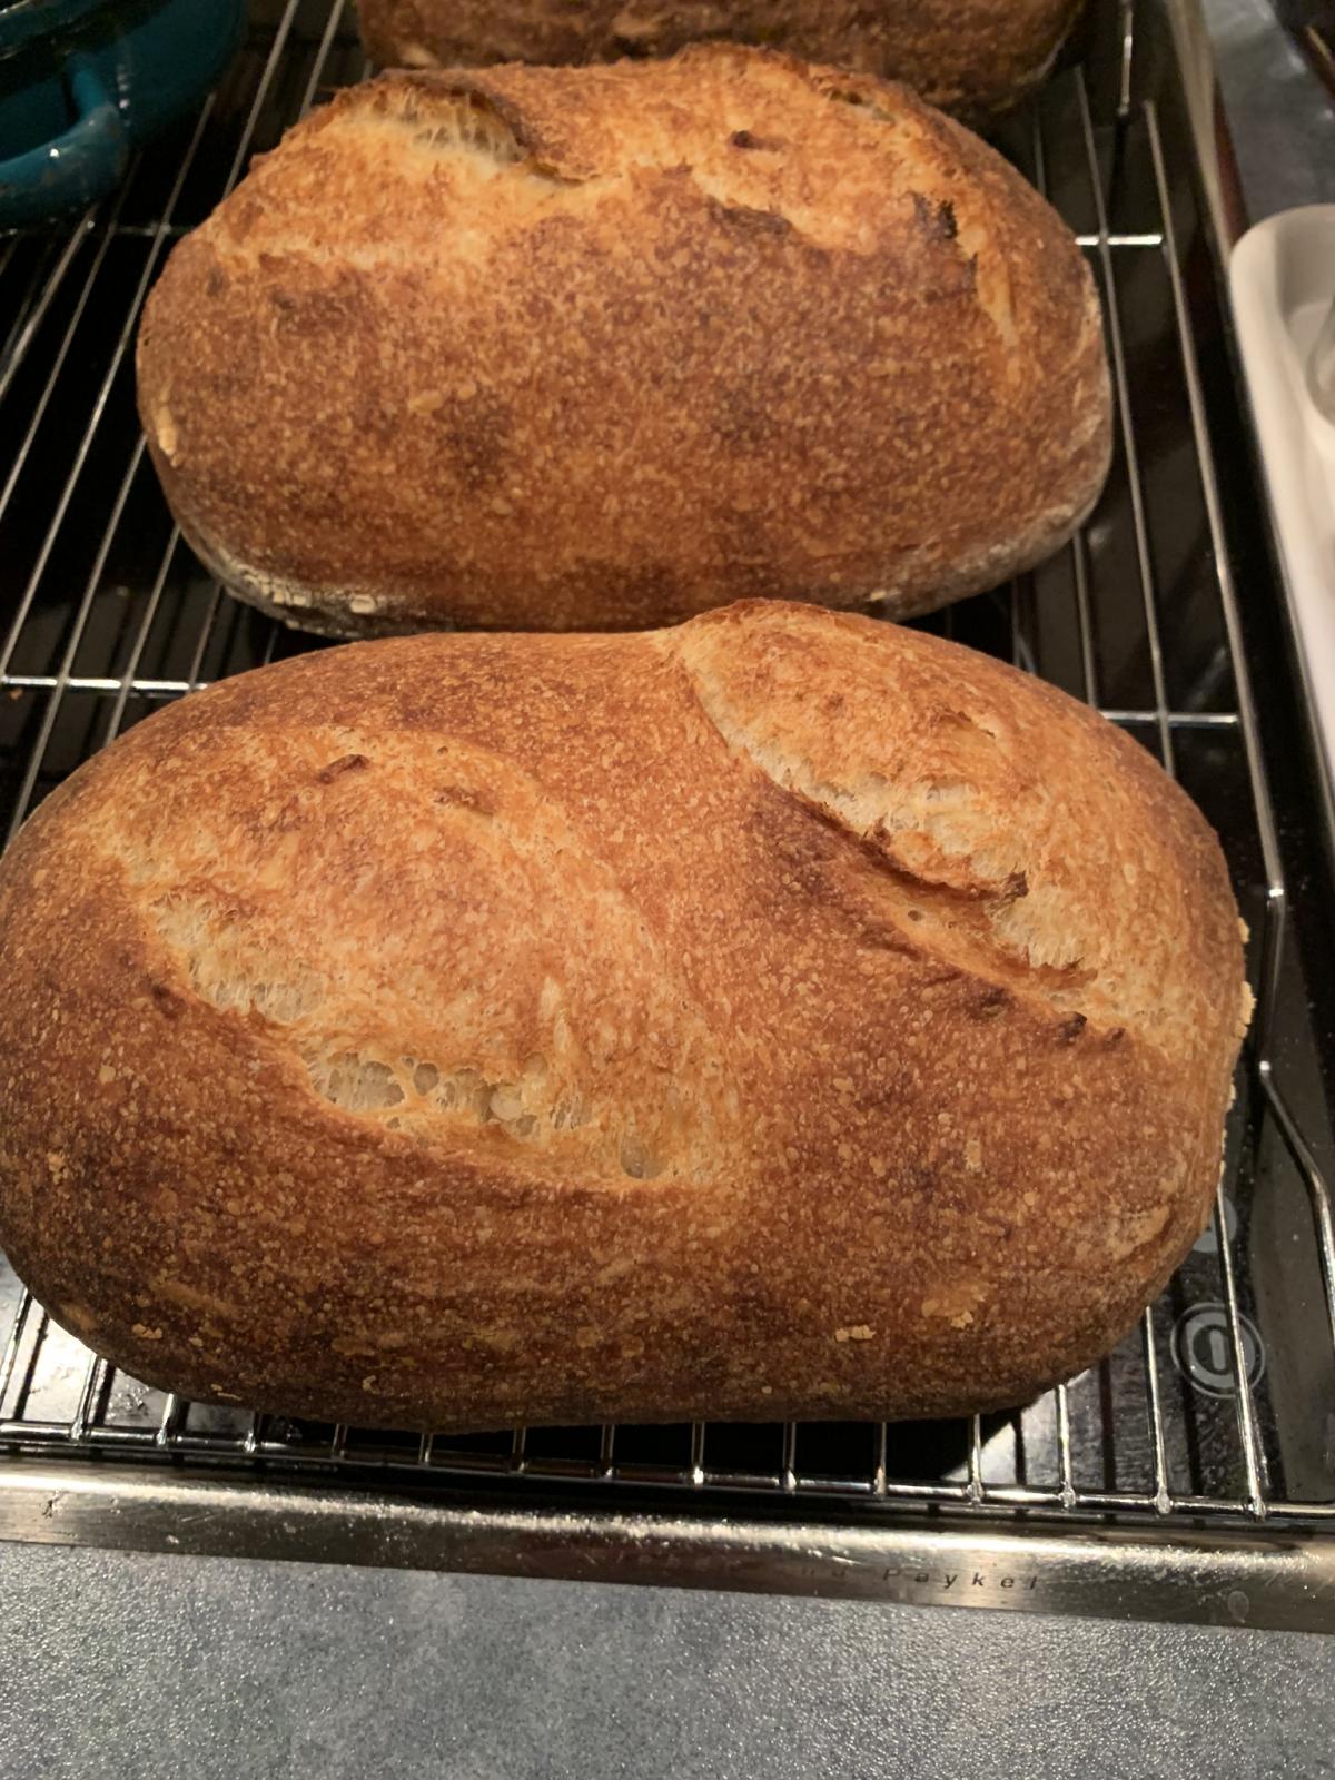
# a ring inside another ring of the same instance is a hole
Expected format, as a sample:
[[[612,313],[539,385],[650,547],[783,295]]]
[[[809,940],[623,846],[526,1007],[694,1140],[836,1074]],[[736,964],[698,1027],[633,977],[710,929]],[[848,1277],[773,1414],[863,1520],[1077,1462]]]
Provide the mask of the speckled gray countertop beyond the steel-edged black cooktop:
[[[1335,199],[1205,0],[1253,219]],[[1335,1639],[0,1545],[0,1776],[1335,1775]]]

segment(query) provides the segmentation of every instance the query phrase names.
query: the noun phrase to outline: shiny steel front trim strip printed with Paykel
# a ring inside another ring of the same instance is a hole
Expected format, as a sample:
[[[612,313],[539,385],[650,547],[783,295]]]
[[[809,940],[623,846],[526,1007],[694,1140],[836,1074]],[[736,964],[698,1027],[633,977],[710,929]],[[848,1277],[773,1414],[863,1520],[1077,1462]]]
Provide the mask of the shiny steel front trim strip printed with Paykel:
[[[0,1540],[1335,1634],[1335,1538],[1180,1524],[769,1522],[0,1461]]]

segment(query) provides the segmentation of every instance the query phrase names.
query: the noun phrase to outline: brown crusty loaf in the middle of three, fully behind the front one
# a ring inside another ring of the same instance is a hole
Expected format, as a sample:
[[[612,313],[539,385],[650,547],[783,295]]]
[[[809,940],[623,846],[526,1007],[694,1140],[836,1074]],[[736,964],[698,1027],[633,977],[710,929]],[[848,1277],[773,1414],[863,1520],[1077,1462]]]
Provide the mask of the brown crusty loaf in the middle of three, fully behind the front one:
[[[205,562],[333,635],[926,611],[1064,543],[1111,438],[1024,180],[728,46],[342,94],[176,247],[139,393]]]

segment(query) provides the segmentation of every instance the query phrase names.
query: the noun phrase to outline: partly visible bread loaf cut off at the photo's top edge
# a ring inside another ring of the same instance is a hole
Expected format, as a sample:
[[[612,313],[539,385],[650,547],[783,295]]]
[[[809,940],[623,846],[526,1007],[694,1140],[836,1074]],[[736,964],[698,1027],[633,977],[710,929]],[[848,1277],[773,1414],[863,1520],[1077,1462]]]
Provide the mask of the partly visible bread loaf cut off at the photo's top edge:
[[[1009,110],[1048,73],[1080,0],[360,0],[383,68],[607,62],[703,37],[769,44],[906,80],[968,117]]]

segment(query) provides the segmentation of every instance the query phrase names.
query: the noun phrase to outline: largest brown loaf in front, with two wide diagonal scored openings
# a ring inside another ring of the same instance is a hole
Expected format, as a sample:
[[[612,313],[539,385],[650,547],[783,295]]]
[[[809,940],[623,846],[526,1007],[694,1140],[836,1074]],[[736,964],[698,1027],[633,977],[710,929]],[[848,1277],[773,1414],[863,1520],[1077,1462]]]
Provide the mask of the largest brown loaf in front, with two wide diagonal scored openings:
[[[189,698],[23,829],[0,952],[0,1241],[53,1315],[402,1428],[1024,1399],[1202,1230],[1248,1006],[1132,740],[764,603]]]

